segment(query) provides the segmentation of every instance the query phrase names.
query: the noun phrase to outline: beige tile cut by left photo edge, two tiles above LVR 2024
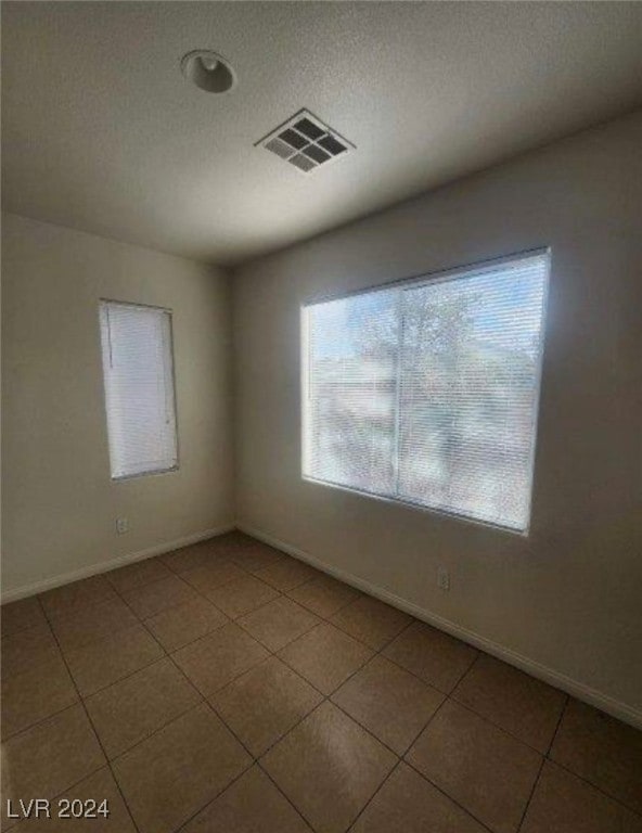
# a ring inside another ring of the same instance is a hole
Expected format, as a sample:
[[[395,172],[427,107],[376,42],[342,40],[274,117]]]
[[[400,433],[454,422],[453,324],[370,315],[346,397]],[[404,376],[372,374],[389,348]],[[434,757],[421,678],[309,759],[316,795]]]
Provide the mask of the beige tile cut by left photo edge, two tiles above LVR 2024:
[[[9,738],[78,700],[60,652],[2,680],[2,738]]]

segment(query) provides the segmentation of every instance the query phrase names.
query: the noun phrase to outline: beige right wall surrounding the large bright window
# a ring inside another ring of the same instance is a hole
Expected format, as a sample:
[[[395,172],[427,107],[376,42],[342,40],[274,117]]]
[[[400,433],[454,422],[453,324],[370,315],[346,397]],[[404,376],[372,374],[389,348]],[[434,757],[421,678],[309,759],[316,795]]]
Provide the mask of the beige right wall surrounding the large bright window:
[[[642,719],[641,146],[637,114],[247,265],[233,283],[239,522],[630,719]],[[314,178],[309,189],[313,200]],[[303,302],[545,245],[528,538],[301,480]]]

